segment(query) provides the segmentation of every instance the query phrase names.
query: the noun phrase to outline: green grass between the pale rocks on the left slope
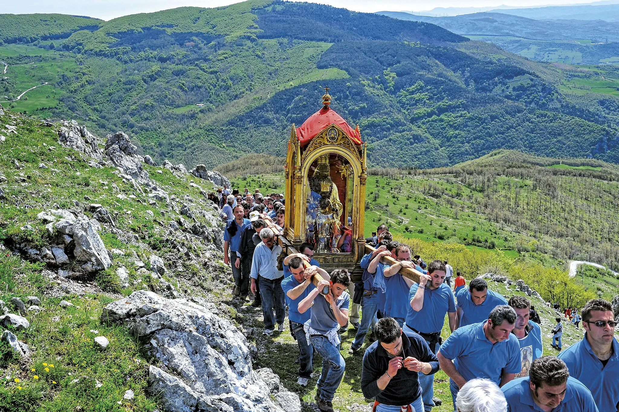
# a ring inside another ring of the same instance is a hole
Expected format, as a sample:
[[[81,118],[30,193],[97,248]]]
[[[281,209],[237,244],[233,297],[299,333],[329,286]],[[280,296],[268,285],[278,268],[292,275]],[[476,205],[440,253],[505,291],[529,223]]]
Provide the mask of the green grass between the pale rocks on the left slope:
[[[54,204],[56,207],[74,207],[71,200],[88,204],[84,201],[87,195],[92,202],[105,205],[111,213],[118,213],[118,229],[137,234],[142,246],[127,244],[115,234],[103,231],[101,235],[106,247],[121,249],[126,255],[115,255],[113,267],[109,270],[98,273],[94,278],[84,279],[84,283],[80,281],[80,286],[92,292],[81,296],[66,294],[64,299],[75,305],[67,309],[58,306],[61,298],[54,297],[59,296],[54,294],[59,291],[58,285],[47,277],[50,272],[44,272],[43,265],[29,264],[2,250],[0,299],[8,302],[12,296],[38,296],[45,311],[39,314],[30,312],[27,319],[32,326],[28,330],[15,332],[20,340],[32,348],[32,365],[20,364],[17,359],[9,356],[6,346],[0,346],[0,369],[3,371],[3,378],[0,379],[0,410],[150,412],[156,407],[160,408],[157,398],[145,393],[148,369],[141,341],[129,335],[123,327],[102,324],[99,320],[102,309],[123,294],[152,286],[150,275],[137,274],[135,261],[148,262],[147,257],[153,250],[164,257],[168,264],[171,259],[178,261],[180,267],[168,267],[170,272],[167,278],[189,294],[219,295],[220,286],[211,280],[222,269],[214,261],[209,272],[206,272],[205,267],[189,264],[183,255],[171,249],[169,236],[165,234],[162,225],[168,228],[168,222],[178,217],[173,211],[167,210],[164,204],[149,205],[147,196],[135,193],[133,187],[123,183],[123,179],[113,173],[111,168],[90,168],[79,153],[60,147],[55,129],[41,126],[40,121],[35,119],[11,116],[12,113],[7,112],[6,116],[0,118],[1,124],[14,123],[18,132],[17,135],[8,135],[6,141],[0,143],[0,175],[7,179],[0,181],[0,187],[8,199],[4,203],[0,202],[0,242],[13,233],[22,233],[34,243],[44,242],[40,235],[43,226],[36,218],[37,213]],[[51,150],[50,147],[55,149]],[[19,162],[19,169],[15,168],[14,160]],[[38,168],[41,162],[48,169]],[[206,200],[202,200],[204,198],[199,188],[189,184],[196,182],[209,190],[212,187],[210,182],[197,178],[177,178],[163,168],[145,168],[152,179],[175,196],[173,199],[188,199],[189,196],[195,199],[193,202],[196,204],[209,205]],[[155,173],[155,170],[163,173]],[[119,187],[125,195],[124,199],[116,197],[112,183]],[[135,198],[128,197],[134,194]],[[154,212],[154,218],[146,213],[147,210]],[[168,213],[163,215],[162,211]],[[200,216],[197,218],[199,221],[204,219]],[[20,227],[26,224],[32,225],[35,231],[21,231]],[[196,241],[181,240],[180,244],[197,255],[203,247]],[[132,256],[133,253],[137,259]],[[130,286],[124,289],[115,274],[116,268],[121,266],[129,272]],[[102,288],[108,293],[103,293]],[[9,308],[14,311],[11,304]],[[98,333],[90,330],[97,330]],[[107,351],[95,350],[93,338],[97,335],[104,335],[110,340]],[[54,366],[47,366],[50,371],[46,372],[43,363]],[[35,375],[38,379],[34,378]],[[19,384],[14,379],[19,379]],[[79,379],[79,383],[71,383],[74,379]],[[97,388],[95,380],[102,387]],[[123,400],[124,392],[128,389],[136,393],[134,400]]]

